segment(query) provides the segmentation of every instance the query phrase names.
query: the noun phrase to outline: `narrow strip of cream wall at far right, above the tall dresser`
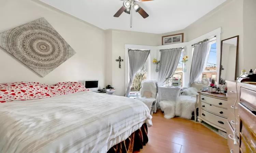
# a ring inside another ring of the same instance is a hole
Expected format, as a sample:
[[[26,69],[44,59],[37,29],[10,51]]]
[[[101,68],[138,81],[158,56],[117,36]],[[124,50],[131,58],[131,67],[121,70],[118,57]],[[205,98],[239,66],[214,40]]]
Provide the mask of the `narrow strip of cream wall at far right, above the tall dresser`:
[[[256,0],[244,0],[243,8],[244,68],[248,72],[256,68]]]

